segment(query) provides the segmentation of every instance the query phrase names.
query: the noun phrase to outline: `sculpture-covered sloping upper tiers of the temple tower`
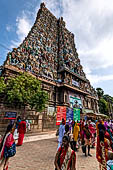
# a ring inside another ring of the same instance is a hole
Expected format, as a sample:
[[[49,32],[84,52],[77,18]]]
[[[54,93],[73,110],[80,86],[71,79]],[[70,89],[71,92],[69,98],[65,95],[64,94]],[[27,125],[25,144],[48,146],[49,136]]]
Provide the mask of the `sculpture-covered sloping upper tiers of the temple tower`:
[[[4,65],[53,82],[59,80],[63,71],[69,72],[92,88],[80,64],[74,35],[66,29],[63,18],[57,19],[44,3],[28,36],[18,48],[8,53]],[[94,89],[90,92],[96,94]]]

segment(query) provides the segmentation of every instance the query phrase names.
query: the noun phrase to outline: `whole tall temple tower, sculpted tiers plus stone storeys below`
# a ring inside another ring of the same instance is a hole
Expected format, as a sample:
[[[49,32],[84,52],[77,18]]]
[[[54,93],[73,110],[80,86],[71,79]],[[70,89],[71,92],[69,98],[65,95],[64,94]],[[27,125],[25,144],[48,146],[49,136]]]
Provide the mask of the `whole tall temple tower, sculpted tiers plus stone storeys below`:
[[[83,71],[74,34],[42,3],[36,21],[25,40],[9,52],[3,65],[6,77],[28,72],[42,81],[49,93],[47,110],[57,106],[80,107],[83,113],[98,113],[95,89]]]

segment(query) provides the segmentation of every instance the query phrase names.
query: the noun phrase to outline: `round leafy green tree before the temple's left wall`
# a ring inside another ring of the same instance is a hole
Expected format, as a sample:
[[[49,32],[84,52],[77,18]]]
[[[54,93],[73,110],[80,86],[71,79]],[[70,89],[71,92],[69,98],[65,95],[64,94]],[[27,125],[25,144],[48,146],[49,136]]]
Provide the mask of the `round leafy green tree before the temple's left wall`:
[[[5,88],[5,100],[10,104],[42,111],[48,100],[48,94],[41,89],[41,82],[27,73],[20,74],[15,78],[7,80]]]

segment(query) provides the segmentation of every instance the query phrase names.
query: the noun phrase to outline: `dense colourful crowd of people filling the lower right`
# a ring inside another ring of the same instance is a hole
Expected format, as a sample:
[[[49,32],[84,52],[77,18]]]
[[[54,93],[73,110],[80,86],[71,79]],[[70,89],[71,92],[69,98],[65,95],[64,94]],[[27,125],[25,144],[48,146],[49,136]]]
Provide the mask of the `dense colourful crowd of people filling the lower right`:
[[[91,148],[95,148],[99,169],[113,170],[112,120],[83,119],[77,122],[71,120],[65,122],[65,120],[62,119],[57,135],[56,170],[75,170],[76,151],[79,151],[80,147],[85,157],[92,157],[90,150]],[[64,139],[67,139],[67,145],[64,144]],[[68,161],[66,161],[67,158]]]

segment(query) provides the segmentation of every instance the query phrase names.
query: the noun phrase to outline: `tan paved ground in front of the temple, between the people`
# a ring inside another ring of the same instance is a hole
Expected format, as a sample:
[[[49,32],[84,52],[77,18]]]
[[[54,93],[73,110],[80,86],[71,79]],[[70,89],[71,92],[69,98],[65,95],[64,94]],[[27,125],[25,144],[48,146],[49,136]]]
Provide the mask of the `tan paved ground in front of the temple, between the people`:
[[[55,133],[25,137],[24,144],[17,147],[17,153],[9,160],[8,170],[54,170],[54,157],[57,149]],[[35,141],[32,141],[32,140]],[[85,157],[79,149],[77,154],[77,170],[98,170],[95,149],[93,157]]]

